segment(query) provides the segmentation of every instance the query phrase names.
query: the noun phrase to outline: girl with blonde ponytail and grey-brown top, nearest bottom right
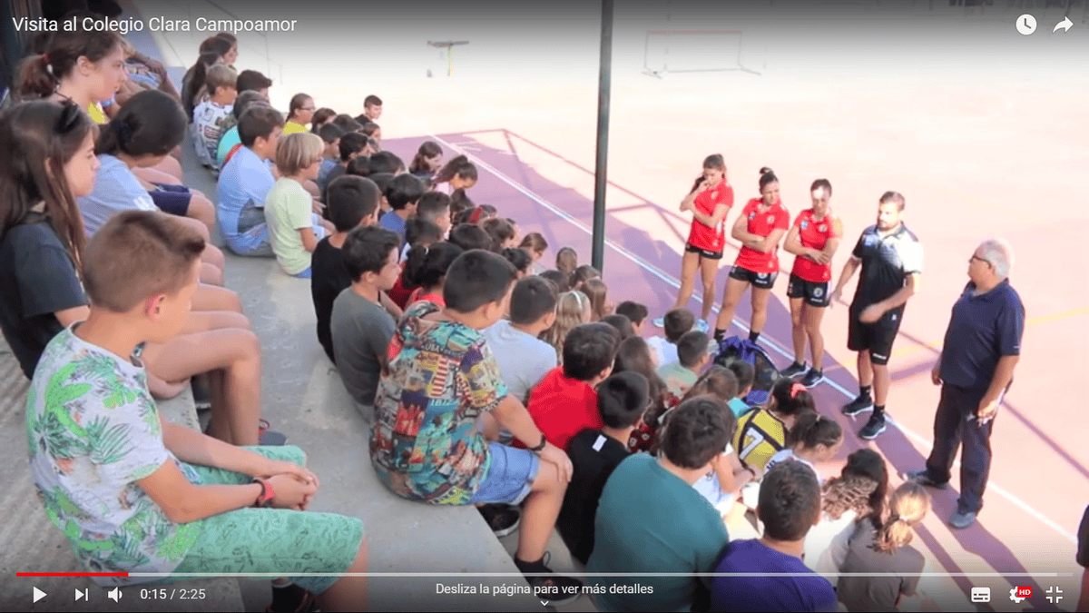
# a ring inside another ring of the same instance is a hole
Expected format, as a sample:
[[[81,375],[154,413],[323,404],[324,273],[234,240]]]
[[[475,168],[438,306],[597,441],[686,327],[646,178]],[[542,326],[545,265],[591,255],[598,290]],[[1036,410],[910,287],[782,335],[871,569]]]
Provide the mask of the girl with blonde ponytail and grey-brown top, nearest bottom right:
[[[888,518],[857,524],[836,587],[847,611],[898,611],[905,599],[925,597],[926,558],[910,543],[929,510],[926,489],[908,481],[893,492]]]

